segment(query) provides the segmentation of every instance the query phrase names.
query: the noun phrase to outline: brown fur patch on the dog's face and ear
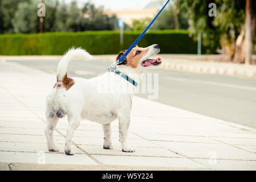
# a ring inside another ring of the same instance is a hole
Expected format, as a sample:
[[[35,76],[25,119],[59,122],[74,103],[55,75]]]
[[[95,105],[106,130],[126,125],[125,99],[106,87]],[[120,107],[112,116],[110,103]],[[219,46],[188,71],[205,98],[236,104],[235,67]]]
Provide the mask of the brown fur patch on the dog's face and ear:
[[[124,55],[125,51],[127,50],[120,52],[119,55],[117,55],[116,60],[120,59],[120,57]],[[137,53],[137,51],[139,51],[140,53]],[[147,55],[148,51],[149,48],[142,48],[136,46],[132,49],[131,52],[128,53],[128,55],[125,57],[125,60],[121,64],[127,65],[132,68],[137,68],[139,61],[142,57]]]

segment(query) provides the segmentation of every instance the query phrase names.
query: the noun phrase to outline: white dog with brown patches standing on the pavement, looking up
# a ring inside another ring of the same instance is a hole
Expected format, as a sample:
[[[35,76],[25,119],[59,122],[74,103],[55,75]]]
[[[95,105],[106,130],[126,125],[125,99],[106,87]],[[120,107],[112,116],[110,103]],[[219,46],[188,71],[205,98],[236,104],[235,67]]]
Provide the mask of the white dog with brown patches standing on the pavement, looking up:
[[[135,152],[127,144],[128,127],[134,93],[100,93],[99,88],[111,87],[115,83],[117,88],[134,88],[132,82],[120,75],[124,74],[137,83],[147,68],[158,67],[161,64],[160,57],[150,59],[160,52],[159,45],[141,48],[134,47],[128,53],[123,63],[117,65],[118,73],[105,72],[103,75],[84,79],[67,77],[67,67],[71,60],[91,60],[93,57],[82,48],[71,48],[60,60],[56,71],[57,81],[53,89],[46,97],[45,134],[48,151],[59,151],[54,144],[53,133],[59,118],[67,115],[68,127],[64,151],[66,155],[74,155],[71,150],[72,136],[80,125],[82,119],[88,119],[103,125],[104,149],[113,149],[111,142],[111,122],[119,119],[119,138],[123,152]],[[124,55],[119,53],[116,60]]]

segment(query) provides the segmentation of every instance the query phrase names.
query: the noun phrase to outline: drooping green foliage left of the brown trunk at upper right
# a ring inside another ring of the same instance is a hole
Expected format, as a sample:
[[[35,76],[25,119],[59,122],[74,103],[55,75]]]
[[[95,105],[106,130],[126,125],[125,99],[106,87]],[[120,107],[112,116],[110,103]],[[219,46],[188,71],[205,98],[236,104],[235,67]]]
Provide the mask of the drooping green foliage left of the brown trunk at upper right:
[[[216,3],[216,16],[208,15],[210,3]],[[209,48],[206,52],[224,44],[234,46],[245,23],[245,0],[184,0],[178,1],[178,4],[186,11],[189,32],[194,38],[198,31],[202,32],[202,43]],[[252,10],[255,10],[255,5],[255,1],[252,1]]]

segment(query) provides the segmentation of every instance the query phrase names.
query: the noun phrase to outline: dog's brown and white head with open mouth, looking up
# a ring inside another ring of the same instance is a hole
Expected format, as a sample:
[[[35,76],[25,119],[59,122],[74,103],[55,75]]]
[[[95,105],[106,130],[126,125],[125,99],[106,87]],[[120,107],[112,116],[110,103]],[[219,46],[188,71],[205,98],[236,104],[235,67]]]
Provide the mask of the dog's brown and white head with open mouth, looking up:
[[[125,51],[126,50],[120,52],[116,57],[116,60],[120,59],[120,57],[124,55]],[[136,46],[131,52],[128,53],[121,65],[126,65],[132,68],[157,67],[161,64],[161,58],[158,57],[157,59],[151,59],[151,57],[157,55],[159,52],[160,48],[157,44],[153,44],[152,46],[146,48]]]

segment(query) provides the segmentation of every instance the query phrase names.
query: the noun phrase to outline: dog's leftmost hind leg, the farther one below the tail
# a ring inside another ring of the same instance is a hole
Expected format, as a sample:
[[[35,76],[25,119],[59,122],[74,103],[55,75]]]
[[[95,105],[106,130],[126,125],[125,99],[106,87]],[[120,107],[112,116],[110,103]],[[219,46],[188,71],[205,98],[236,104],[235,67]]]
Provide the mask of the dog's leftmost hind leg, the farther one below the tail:
[[[58,119],[54,113],[46,111],[47,126],[44,129],[44,133],[46,134],[48,150],[51,152],[59,151],[59,148],[54,144],[54,129]]]

